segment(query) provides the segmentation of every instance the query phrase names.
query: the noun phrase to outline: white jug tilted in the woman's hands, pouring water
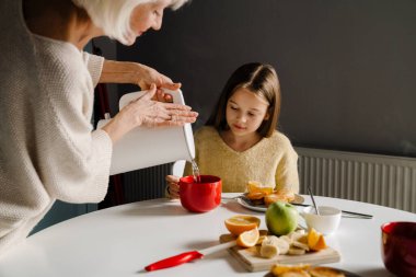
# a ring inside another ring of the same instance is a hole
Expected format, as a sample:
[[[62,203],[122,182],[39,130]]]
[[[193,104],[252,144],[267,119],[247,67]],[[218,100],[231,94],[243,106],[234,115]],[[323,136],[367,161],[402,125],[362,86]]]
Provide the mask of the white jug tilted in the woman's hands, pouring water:
[[[173,103],[185,104],[181,90],[164,90],[164,92],[172,95]],[[139,91],[123,95],[119,108],[122,109],[143,93]],[[97,128],[102,128],[108,122],[109,119],[100,120]],[[190,124],[182,127],[137,127],[114,145],[109,174],[114,175],[178,160],[190,161],[194,158],[195,145]]]

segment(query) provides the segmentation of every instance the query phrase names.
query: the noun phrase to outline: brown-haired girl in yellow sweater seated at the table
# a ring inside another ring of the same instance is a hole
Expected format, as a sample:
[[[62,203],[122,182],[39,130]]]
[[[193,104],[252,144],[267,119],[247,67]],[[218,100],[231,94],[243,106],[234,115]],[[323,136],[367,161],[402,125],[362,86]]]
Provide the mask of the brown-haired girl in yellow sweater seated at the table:
[[[275,69],[258,62],[238,68],[207,124],[195,134],[195,161],[203,175],[222,178],[222,192],[243,193],[249,181],[299,192],[298,154],[276,130],[280,85]],[[184,175],[192,175],[187,163]],[[178,197],[178,176],[167,175],[167,194]]]

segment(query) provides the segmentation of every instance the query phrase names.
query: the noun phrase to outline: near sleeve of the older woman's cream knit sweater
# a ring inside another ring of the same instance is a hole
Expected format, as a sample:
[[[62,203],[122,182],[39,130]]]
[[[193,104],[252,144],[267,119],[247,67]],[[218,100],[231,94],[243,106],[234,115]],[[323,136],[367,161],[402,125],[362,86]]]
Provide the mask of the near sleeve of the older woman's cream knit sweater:
[[[104,130],[92,131],[93,88],[86,69],[65,70],[62,79],[51,79],[45,88],[48,107],[36,112],[47,126],[35,128],[42,143],[39,175],[54,198],[97,203],[107,192],[113,142]]]

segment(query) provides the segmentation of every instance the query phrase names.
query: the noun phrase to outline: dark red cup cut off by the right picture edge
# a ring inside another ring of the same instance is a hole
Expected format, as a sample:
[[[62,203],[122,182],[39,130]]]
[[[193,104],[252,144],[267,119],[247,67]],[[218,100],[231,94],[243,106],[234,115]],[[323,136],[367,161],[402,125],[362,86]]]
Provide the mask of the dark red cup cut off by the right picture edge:
[[[381,226],[381,255],[385,268],[397,276],[416,276],[416,222]]]

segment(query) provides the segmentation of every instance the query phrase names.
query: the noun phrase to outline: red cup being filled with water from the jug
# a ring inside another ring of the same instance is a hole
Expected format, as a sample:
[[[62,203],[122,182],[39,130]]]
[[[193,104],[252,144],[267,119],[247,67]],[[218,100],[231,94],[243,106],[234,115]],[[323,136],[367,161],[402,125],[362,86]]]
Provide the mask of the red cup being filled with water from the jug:
[[[180,198],[182,206],[194,212],[205,212],[217,208],[221,203],[221,178],[212,175],[200,175],[196,183],[194,176],[180,180]]]

